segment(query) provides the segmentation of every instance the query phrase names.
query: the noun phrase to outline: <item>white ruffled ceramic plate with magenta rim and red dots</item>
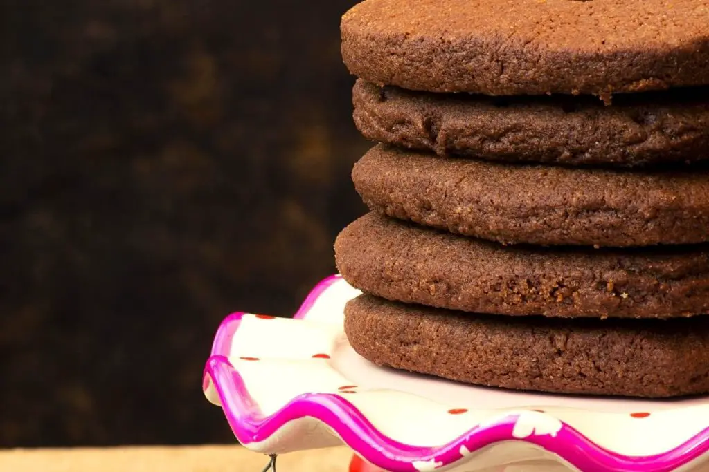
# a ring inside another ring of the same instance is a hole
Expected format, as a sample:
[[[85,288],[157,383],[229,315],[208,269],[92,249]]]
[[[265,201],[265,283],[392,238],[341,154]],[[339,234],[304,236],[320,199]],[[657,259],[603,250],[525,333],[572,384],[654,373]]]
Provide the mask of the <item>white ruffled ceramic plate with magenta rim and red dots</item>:
[[[335,275],[294,318],[234,313],[203,390],[237,439],[265,454],[345,443],[386,471],[705,471],[709,397],[545,395],[384,369],[352,350]]]

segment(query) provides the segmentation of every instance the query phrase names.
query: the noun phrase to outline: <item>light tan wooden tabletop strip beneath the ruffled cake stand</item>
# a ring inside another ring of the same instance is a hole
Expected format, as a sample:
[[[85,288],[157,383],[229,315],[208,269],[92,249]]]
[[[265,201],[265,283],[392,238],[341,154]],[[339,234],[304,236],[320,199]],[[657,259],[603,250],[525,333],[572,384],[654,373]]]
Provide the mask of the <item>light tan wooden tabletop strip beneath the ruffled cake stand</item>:
[[[345,447],[279,456],[278,472],[347,472]],[[240,446],[0,449],[1,472],[261,472],[268,456]]]

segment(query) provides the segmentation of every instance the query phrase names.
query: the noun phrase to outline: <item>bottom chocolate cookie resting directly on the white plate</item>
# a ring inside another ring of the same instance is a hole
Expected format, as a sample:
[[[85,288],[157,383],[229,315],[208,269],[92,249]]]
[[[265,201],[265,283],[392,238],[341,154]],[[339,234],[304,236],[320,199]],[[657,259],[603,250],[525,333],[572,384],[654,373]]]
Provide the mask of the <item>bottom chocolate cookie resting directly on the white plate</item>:
[[[362,295],[345,333],[365,359],[469,384],[673,397],[709,392],[709,317],[562,320],[485,316]]]

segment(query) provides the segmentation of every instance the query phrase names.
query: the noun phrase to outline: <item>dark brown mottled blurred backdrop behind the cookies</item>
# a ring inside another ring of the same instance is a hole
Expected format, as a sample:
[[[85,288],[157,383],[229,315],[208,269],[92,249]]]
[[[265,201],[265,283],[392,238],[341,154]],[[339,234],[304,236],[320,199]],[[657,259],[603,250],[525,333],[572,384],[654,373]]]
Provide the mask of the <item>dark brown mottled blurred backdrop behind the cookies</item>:
[[[233,441],[214,330],[363,212],[354,3],[0,1],[0,447]]]

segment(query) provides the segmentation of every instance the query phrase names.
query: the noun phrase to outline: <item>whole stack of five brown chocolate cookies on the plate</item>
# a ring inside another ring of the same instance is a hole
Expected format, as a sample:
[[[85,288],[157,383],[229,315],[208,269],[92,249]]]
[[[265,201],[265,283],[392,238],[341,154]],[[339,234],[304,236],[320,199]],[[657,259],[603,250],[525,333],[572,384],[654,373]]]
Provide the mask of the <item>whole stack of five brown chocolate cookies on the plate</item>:
[[[709,392],[709,4],[366,0],[342,18],[354,350],[469,384]]]

